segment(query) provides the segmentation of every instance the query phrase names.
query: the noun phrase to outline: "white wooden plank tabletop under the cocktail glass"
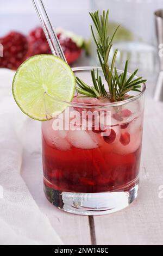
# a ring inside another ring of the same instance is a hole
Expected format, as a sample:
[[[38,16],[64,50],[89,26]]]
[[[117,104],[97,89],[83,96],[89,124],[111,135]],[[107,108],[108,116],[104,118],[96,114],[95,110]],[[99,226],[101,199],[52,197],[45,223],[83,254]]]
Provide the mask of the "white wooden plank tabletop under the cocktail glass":
[[[39,131],[37,122],[33,121],[32,125]],[[31,123],[29,127],[27,124],[27,131],[30,126]],[[35,142],[40,143],[39,132]],[[120,212],[85,217],[55,208],[43,194],[39,148],[24,151],[22,176],[37,205],[66,245],[163,244],[163,192],[159,191],[161,185],[163,190],[163,103],[146,99],[139,197]]]

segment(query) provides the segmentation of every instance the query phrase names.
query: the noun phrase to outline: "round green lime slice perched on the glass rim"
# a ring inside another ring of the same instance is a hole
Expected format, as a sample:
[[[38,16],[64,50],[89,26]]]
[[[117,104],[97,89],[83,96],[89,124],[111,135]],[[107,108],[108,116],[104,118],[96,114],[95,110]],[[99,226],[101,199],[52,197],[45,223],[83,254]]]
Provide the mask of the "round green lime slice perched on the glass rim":
[[[72,101],[75,86],[76,78],[67,63],[53,55],[41,54],[29,58],[18,68],[12,94],[24,114],[46,121],[52,119],[53,113],[65,110],[66,104],[62,101]],[[46,94],[52,97],[45,97]]]

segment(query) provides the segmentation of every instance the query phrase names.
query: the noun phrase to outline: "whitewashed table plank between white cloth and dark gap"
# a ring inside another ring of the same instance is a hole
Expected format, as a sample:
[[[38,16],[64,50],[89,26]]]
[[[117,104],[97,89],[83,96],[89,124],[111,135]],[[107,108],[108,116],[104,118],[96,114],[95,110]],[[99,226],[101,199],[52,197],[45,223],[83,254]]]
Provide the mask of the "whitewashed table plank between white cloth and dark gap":
[[[33,120],[27,121],[25,130],[28,137],[22,138],[28,150],[24,151],[23,155],[23,179],[40,210],[49,218],[65,245],[91,245],[89,218],[58,210],[45,198],[42,184],[41,135],[40,127],[37,127],[36,123]]]

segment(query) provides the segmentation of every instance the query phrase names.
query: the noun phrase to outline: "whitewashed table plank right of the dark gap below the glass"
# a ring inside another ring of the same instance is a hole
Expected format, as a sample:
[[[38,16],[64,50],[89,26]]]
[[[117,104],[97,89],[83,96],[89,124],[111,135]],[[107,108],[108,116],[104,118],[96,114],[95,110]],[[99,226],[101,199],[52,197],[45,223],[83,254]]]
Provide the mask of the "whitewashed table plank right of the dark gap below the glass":
[[[162,245],[163,103],[147,100],[140,191],[137,200],[115,214],[96,216],[98,245]]]

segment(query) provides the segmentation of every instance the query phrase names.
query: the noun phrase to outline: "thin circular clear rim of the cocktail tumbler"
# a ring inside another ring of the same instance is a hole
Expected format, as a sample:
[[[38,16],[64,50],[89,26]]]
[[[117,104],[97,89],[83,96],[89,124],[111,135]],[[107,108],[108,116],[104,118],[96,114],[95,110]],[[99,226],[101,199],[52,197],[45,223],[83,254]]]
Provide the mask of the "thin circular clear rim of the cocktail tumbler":
[[[79,66],[79,67],[75,67],[75,68],[72,68],[72,71],[73,72],[76,72],[76,71],[91,71],[91,70],[101,70],[102,71],[102,68],[101,67],[98,67],[98,66]],[[121,73],[122,74],[122,70],[120,69],[117,69],[117,72],[118,73]],[[127,72],[127,75],[132,75],[130,72]],[[137,76],[134,76],[135,78],[137,78]],[[58,101],[60,103],[66,103],[66,105],[68,106],[72,106],[72,107],[86,107],[86,108],[97,108],[97,107],[115,107],[115,106],[122,106],[122,105],[125,105],[131,101],[135,101],[137,99],[139,99],[144,93],[145,93],[145,90],[146,90],[146,84],[145,83],[142,83],[142,90],[141,90],[141,93],[131,97],[130,99],[126,99],[126,100],[123,100],[123,101],[118,101],[118,102],[107,102],[107,103],[79,103],[79,102],[72,102],[72,101],[64,101],[64,100],[59,100],[59,99],[55,99],[55,101]],[[48,95],[48,94],[47,94]],[[51,96],[51,95],[49,95]]]

